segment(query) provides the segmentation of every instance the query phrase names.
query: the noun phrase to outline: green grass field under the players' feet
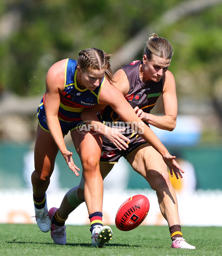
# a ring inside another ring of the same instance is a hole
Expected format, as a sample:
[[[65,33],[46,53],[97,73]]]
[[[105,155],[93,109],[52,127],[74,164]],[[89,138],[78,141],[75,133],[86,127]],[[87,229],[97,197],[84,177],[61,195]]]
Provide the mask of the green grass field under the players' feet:
[[[54,244],[50,232],[34,224],[0,224],[1,256],[221,256],[222,227],[182,227],[184,238],[196,250],[171,249],[168,227],[139,226],[120,231],[111,226],[112,241],[92,248],[89,226],[67,226],[67,244]]]

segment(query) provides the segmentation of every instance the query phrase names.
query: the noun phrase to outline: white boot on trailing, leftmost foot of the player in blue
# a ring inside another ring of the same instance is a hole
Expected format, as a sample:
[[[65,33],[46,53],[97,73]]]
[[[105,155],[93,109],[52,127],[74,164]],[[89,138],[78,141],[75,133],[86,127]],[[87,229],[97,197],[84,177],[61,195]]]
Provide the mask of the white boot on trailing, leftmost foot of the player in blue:
[[[37,209],[34,205],[35,211],[36,211],[36,222],[38,227],[41,231],[44,233],[47,233],[50,230],[51,227],[51,220],[48,216],[48,208],[47,208],[47,200],[46,205],[42,209]]]

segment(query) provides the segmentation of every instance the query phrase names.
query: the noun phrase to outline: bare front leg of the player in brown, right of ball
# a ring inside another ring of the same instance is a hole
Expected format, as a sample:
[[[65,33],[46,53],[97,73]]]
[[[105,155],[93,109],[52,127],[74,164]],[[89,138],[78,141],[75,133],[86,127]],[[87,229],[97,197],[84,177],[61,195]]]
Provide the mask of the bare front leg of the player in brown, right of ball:
[[[159,208],[168,226],[179,224],[176,194],[169,181],[162,156],[151,146],[142,146],[128,157],[132,168],[142,175],[157,193]]]

